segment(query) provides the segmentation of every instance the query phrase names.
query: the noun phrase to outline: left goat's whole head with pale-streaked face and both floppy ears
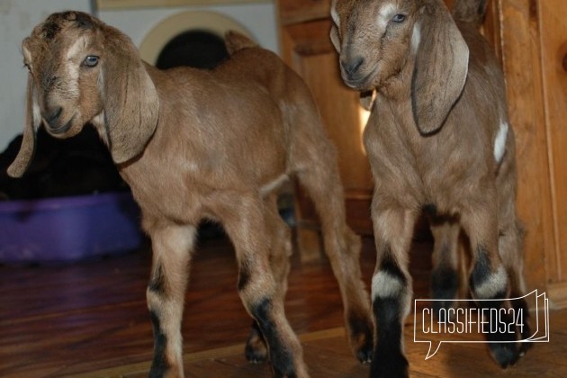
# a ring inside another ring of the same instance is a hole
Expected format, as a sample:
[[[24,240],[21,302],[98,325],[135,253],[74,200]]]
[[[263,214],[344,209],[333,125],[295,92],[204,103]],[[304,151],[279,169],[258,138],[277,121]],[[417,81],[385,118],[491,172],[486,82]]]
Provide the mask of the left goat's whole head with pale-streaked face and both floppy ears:
[[[131,40],[89,14],[51,14],[23,40],[28,78],[22,148],[8,174],[29,165],[43,122],[57,138],[94,121],[115,163],[141,153],[159,111],[157,91]]]

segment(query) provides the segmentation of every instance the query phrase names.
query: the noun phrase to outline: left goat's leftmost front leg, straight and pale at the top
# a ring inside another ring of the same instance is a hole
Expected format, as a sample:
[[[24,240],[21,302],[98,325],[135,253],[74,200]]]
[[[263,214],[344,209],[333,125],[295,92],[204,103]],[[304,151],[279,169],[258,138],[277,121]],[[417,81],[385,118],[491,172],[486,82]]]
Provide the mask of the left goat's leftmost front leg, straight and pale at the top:
[[[152,229],[151,278],[146,296],[154,331],[150,377],[183,377],[181,320],[195,228],[167,225]]]

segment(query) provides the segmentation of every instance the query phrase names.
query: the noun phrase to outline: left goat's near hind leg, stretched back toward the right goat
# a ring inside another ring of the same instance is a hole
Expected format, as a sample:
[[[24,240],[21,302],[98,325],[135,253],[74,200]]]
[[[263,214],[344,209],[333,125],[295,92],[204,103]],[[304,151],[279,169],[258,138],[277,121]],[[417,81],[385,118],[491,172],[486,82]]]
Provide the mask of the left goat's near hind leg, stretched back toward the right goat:
[[[290,106],[286,113],[288,123],[293,125],[291,171],[297,175],[319,213],[325,253],[345,307],[350,346],[360,361],[368,362],[374,344],[374,325],[360,270],[360,238],[347,226],[335,148],[325,134],[309,89],[299,79],[297,81],[291,101],[302,106]]]

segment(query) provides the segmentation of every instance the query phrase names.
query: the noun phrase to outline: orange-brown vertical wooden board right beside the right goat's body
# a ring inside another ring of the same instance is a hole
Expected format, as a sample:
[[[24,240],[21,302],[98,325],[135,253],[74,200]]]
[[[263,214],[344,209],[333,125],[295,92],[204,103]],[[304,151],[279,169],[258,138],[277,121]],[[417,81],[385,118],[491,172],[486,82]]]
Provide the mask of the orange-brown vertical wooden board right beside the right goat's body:
[[[542,95],[538,21],[531,1],[499,0],[509,119],[516,132],[518,213],[524,221],[528,291],[543,290],[545,261],[554,250],[554,225]],[[556,280],[557,275],[549,277]]]

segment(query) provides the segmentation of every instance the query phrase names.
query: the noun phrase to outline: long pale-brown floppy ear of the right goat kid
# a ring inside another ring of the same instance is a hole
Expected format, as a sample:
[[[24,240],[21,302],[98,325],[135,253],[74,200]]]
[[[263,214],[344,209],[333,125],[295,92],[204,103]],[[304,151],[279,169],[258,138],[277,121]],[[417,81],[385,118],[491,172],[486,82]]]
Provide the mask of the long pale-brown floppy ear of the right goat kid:
[[[469,49],[441,0],[435,6],[423,8],[422,12],[423,17],[414,29],[414,40],[418,40],[419,47],[411,100],[419,132],[427,135],[443,126],[463,92]]]

